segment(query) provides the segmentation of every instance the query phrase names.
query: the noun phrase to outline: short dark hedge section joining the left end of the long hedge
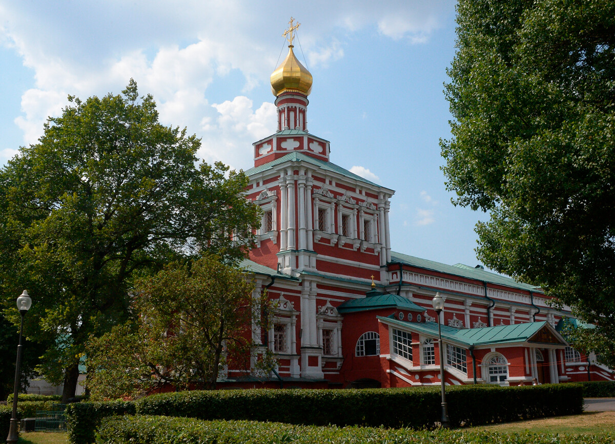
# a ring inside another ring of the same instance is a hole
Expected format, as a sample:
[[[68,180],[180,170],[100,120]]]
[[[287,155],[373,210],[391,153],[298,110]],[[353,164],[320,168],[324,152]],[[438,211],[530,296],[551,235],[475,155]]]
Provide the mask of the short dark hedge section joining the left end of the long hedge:
[[[73,444],[94,442],[95,430],[106,416],[135,414],[131,401],[79,402],[66,406],[66,430]]]

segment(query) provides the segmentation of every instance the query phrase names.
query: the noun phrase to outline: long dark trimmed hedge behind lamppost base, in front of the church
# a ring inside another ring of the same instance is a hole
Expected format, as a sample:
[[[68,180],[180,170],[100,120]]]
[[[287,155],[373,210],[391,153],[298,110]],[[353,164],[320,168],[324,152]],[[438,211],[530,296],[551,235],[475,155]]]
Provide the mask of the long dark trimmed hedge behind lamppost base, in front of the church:
[[[581,386],[451,386],[446,401],[454,426],[577,414]],[[410,389],[221,390],[153,395],[137,413],[198,419],[287,422],[314,426],[433,427],[440,421],[439,387]]]

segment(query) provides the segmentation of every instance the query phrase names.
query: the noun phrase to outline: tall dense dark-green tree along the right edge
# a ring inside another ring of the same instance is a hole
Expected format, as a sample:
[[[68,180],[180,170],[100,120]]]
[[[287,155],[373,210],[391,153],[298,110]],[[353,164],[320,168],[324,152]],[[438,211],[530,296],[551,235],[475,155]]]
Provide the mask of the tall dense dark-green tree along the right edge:
[[[597,323],[614,365],[615,3],[461,0],[457,12],[443,170],[455,204],[490,212],[478,257]]]

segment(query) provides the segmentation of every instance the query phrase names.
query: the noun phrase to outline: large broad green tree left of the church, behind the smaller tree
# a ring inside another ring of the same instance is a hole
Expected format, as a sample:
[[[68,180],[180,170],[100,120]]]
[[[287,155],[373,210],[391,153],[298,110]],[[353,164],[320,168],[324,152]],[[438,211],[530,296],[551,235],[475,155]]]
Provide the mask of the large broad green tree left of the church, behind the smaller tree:
[[[0,170],[0,291],[33,298],[26,334],[51,346],[42,375],[74,395],[90,335],[124,322],[135,276],[204,251],[237,261],[258,210],[247,178],[197,166],[200,140],[158,121],[151,96],[69,97],[39,143]],[[232,236],[231,236],[232,234]]]

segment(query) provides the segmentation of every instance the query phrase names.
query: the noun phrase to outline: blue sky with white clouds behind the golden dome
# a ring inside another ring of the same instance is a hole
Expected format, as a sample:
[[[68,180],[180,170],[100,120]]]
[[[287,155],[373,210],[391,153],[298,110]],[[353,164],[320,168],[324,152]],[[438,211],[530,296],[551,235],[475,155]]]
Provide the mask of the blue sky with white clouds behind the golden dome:
[[[276,127],[269,75],[291,16],[314,77],[308,129],[330,140],[332,162],[396,191],[392,248],[477,264],[486,216],[454,207],[440,171],[450,0],[0,0],[0,164],[36,143],[68,94],[119,93],[133,77],[164,124],[202,138],[204,161],[250,168],[252,142]]]

